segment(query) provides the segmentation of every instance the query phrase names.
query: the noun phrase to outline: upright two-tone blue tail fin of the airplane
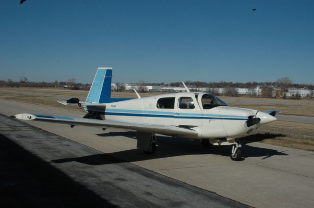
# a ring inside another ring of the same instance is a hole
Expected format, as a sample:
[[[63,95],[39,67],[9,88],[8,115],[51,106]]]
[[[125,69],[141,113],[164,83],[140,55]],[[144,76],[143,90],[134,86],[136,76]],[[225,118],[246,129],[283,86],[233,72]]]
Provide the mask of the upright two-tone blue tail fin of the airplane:
[[[86,102],[106,103],[111,94],[111,77],[112,68],[98,68]]]

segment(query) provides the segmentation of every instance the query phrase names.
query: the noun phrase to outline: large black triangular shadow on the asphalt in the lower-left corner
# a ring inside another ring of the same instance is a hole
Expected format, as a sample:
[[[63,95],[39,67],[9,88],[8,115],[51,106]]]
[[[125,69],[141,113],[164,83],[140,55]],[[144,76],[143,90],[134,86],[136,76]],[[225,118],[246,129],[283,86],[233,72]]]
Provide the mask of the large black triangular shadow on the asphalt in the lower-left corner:
[[[0,170],[1,208],[117,207],[2,134]]]

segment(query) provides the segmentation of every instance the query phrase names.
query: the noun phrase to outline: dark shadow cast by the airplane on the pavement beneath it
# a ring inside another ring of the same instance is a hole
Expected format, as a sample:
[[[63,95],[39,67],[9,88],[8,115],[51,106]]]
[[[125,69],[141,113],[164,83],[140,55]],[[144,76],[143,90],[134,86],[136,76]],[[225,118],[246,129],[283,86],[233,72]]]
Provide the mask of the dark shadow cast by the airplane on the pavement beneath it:
[[[98,136],[125,136],[131,139],[135,139],[134,132],[112,132],[99,134]],[[269,138],[268,138],[269,139]],[[267,149],[261,147],[254,147],[247,145],[253,141],[241,140],[244,158],[253,158],[253,157],[263,157],[262,160],[269,158],[275,155],[288,155],[283,152],[278,152],[274,149]],[[146,155],[141,149],[135,148],[131,150],[113,152],[110,154],[97,154],[90,155],[78,158],[64,158],[59,160],[53,160],[55,163],[62,162],[81,162],[90,165],[103,165],[103,164],[112,164],[120,162],[137,162],[137,161],[146,161],[159,158],[168,158],[176,157],[183,155],[221,155],[226,156],[229,159],[229,152],[231,150],[231,145],[225,146],[214,146],[203,147],[200,143],[200,140],[196,139],[194,141],[181,138],[172,138],[165,136],[157,136],[157,151],[154,155]]]

